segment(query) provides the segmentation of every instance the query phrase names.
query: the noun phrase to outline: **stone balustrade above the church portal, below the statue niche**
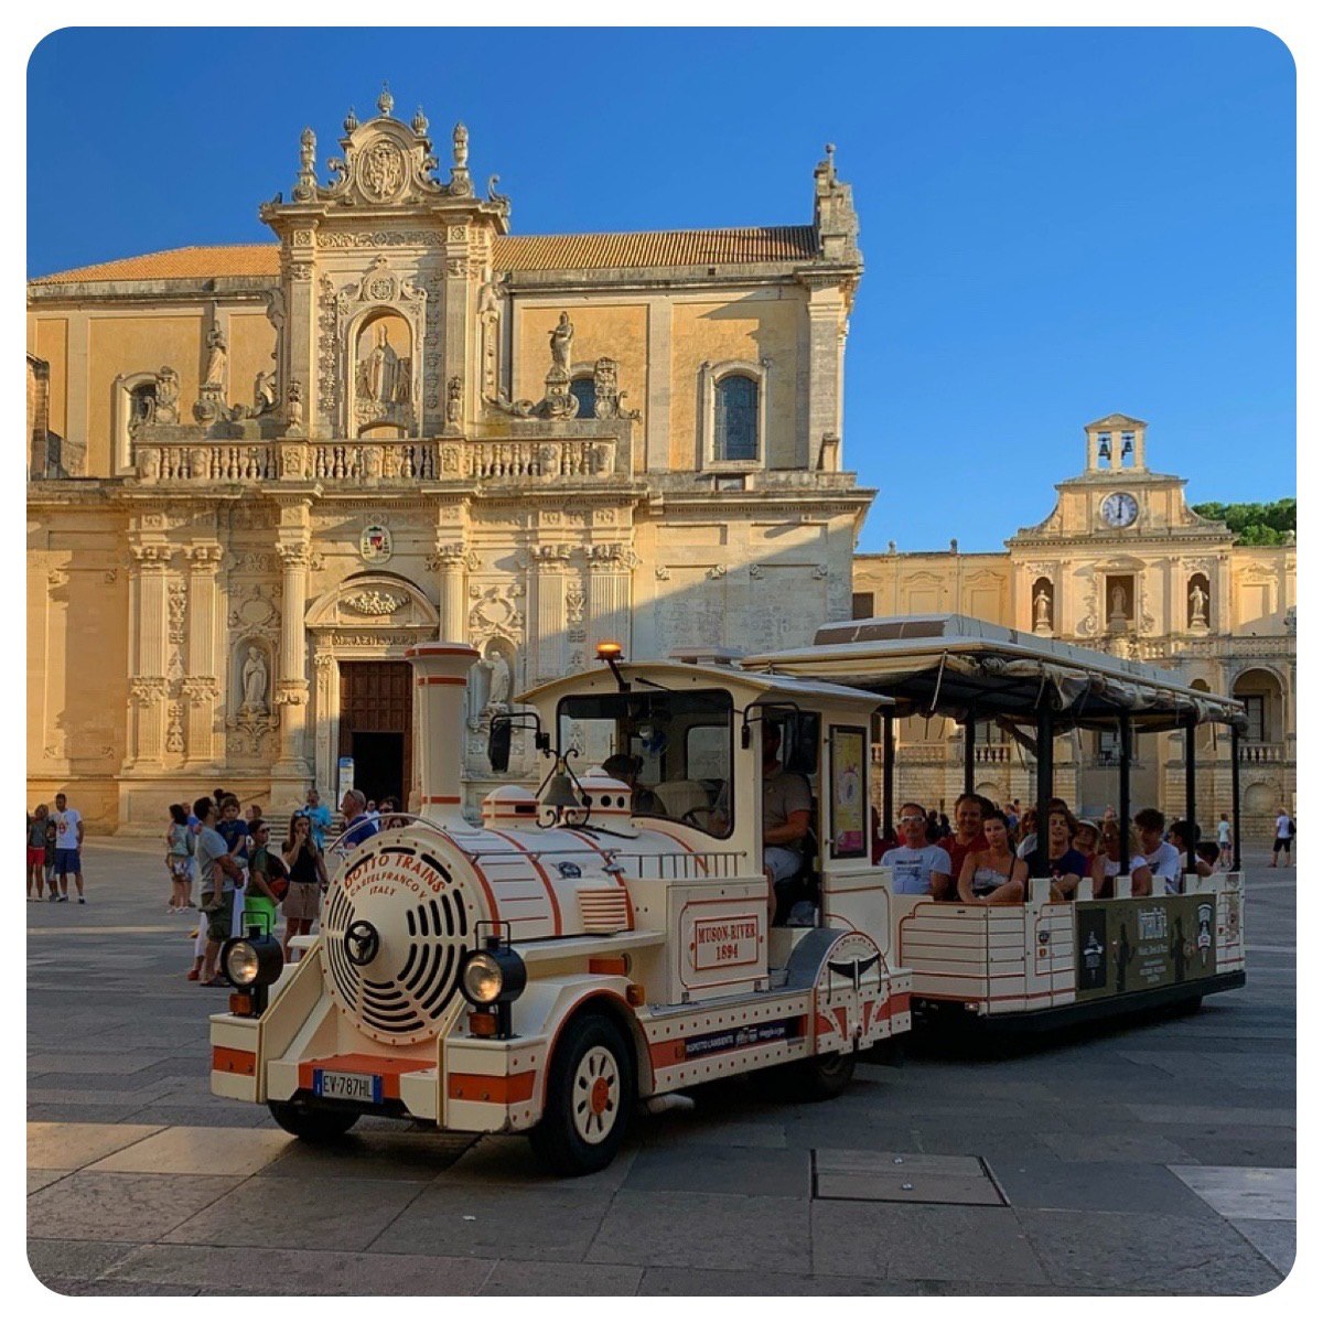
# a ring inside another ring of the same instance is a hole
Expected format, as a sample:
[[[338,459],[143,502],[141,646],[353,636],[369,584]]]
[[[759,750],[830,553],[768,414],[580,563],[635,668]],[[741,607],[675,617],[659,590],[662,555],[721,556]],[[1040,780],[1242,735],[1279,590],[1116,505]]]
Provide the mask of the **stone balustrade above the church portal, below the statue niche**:
[[[138,480],[144,484],[553,483],[609,478],[622,462],[627,466],[628,446],[614,437],[255,442],[139,438],[134,459]]]

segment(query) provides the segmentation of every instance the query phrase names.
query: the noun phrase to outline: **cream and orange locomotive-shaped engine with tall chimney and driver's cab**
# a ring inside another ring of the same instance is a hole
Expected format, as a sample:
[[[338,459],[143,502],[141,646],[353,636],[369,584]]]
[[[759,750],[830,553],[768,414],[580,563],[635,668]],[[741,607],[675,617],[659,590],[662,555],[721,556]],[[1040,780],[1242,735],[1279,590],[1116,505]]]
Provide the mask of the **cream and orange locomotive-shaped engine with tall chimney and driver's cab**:
[[[365,1113],[527,1131],[577,1174],[611,1160],[639,1099],[766,1068],[828,1097],[859,1052],[908,1031],[910,976],[869,853],[868,729],[885,700],[607,650],[609,665],[493,721],[499,771],[516,736],[550,770],[536,794],[490,794],[471,824],[456,744],[476,654],[409,658],[423,815],[333,848],[321,931],[295,938],[296,963],[257,930],[226,946],[213,1091],[311,1140]],[[810,806],[775,914],[765,740]]]

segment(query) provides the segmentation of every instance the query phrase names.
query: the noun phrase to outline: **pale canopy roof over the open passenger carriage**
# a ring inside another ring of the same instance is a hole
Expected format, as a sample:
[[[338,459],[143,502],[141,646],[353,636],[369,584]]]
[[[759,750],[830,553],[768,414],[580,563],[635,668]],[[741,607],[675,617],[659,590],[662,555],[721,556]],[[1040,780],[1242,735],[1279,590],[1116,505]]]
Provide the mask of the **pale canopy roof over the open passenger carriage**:
[[[1171,730],[1193,718],[1244,730],[1236,699],[1179,684],[1171,671],[1008,630],[968,615],[889,615],[822,626],[810,647],[763,652],[750,671],[814,676],[896,700],[898,716],[1032,724],[1046,701],[1058,729]]]

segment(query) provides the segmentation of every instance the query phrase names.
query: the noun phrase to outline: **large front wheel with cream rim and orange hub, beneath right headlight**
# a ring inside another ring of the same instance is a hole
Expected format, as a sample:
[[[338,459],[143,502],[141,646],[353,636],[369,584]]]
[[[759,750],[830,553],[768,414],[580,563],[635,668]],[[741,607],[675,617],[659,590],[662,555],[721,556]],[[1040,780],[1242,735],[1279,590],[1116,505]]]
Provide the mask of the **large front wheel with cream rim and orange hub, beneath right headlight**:
[[[533,1152],[561,1176],[601,1171],[619,1151],[635,1102],[628,1044],[605,1015],[585,1015],[556,1049],[546,1110],[528,1134]]]

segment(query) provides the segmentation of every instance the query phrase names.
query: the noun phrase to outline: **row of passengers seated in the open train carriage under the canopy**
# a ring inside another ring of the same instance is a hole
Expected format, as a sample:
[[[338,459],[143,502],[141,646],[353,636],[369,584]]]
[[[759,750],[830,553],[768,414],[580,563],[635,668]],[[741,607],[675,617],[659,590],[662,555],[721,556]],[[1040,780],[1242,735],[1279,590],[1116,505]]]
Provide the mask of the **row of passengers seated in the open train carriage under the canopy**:
[[[1073,900],[1086,893],[1095,900],[1115,894],[1115,878],[1129,875],[1132,896],[1180,892],[1189,871],[1189,847],[1195,868],[1208,877],[1232,867],[1230,816],[1222,814],[1216,837],[1203,839],[1196,823],[1177,820],[1168,826],[1156,808],[1135,814],[1122,840],[1121,822],[1110,806],[1101,820],[1078,818],[1064,799],[1048,800],[1044,840],[1036,808],[1012,800],[1005,808],[983,795],[964,794],[955,800],[955,823],[945,812],[906,802],[894,827],[885,831],[875,820],[873,861],[892,869],[898,894],[931,896],[966,905],[1017,904],[1024,900],[1031,864],[1035,876],[1052,880],[1053,900]],[[1274,864],[1283,853],[1290,861],[1295,823],[1278,816]]]

